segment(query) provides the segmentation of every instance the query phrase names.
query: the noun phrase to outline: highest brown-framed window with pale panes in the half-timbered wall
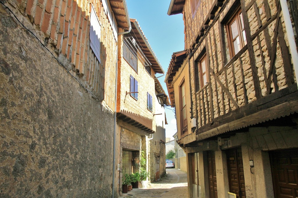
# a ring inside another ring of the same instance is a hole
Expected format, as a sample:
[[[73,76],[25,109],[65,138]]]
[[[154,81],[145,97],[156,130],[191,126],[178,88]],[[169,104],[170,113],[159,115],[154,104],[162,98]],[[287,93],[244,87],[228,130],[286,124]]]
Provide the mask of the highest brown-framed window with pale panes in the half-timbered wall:
[[[246,45],[246,34],[243,17],[239,8],[234,17],[227,24],[231,57],[235,56]]]

